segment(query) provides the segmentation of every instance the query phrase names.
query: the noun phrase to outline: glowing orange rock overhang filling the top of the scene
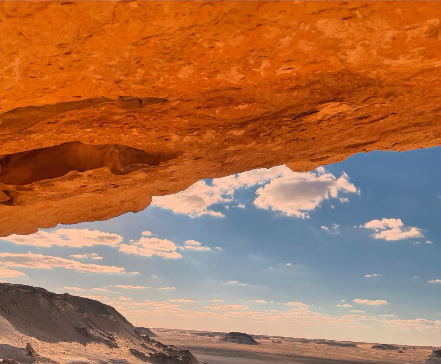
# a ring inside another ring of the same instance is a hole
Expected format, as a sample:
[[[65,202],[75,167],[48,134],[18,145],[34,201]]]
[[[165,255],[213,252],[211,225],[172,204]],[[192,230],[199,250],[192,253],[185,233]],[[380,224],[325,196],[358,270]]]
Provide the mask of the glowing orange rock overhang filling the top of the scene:
[[[0,2],[0,236],[441,142],[435,1]]]

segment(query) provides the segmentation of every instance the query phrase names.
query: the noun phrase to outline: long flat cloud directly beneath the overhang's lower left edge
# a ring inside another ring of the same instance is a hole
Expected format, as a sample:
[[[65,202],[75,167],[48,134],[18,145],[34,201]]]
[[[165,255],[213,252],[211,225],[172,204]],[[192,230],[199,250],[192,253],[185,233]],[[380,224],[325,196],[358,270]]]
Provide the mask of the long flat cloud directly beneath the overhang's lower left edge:
[[[81,248],[83,246],[120,244],[123,237],[118,234],[106,233],[89,229],[56,229],[53,231],[39,230],[30,235],[12,234],[3,240],[19,245],[51,247],[53,245]]]

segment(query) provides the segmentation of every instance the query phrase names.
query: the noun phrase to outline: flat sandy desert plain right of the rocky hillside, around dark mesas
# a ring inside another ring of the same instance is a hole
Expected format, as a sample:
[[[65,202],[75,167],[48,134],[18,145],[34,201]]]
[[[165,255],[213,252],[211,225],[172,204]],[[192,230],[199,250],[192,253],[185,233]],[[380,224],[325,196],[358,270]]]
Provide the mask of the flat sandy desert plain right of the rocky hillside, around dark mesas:
[[[370,349],[374,343],[356,343],[357,348],[347,348],[315,343],[303,343],[293,338],[256,338],[260,345],[243,345],[220,342],[214,338],[196,336],[187,331],[152,329],[164,344],[173,344],[190,350],[199,360],[208,364],[373,364],[373,363],[424,363],[432,353],[429,347],[407,346],[403,354],[397,350]],[[281,341],[275,343],[272,341]],[[404,346],[404,345],[400,345]]]

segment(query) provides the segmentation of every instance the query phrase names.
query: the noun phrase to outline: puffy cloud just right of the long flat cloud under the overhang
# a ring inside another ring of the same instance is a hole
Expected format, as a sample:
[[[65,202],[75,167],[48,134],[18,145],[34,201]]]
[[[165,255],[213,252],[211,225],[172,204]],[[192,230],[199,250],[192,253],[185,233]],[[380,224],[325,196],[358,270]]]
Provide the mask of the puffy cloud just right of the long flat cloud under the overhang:
[[[126,254],[141,256],[161,256],[166,259],[179,259],[182,255],[176,252],[176,244],[173,241],[160,238],[140,238],[131,241],[130,244],[121,244],[118,248]]]

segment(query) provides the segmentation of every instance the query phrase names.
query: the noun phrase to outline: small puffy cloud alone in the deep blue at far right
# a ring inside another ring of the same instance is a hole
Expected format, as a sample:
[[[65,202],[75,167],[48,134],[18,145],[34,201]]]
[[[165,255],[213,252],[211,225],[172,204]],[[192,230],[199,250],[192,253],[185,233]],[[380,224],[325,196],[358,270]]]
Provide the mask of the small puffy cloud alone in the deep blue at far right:
[[[374,219],[360,226],[375,230],[372,236],[375,239],[397,241],[411,238],[422,238],[422,229],[414,226],[405,226],[401,219]]]

